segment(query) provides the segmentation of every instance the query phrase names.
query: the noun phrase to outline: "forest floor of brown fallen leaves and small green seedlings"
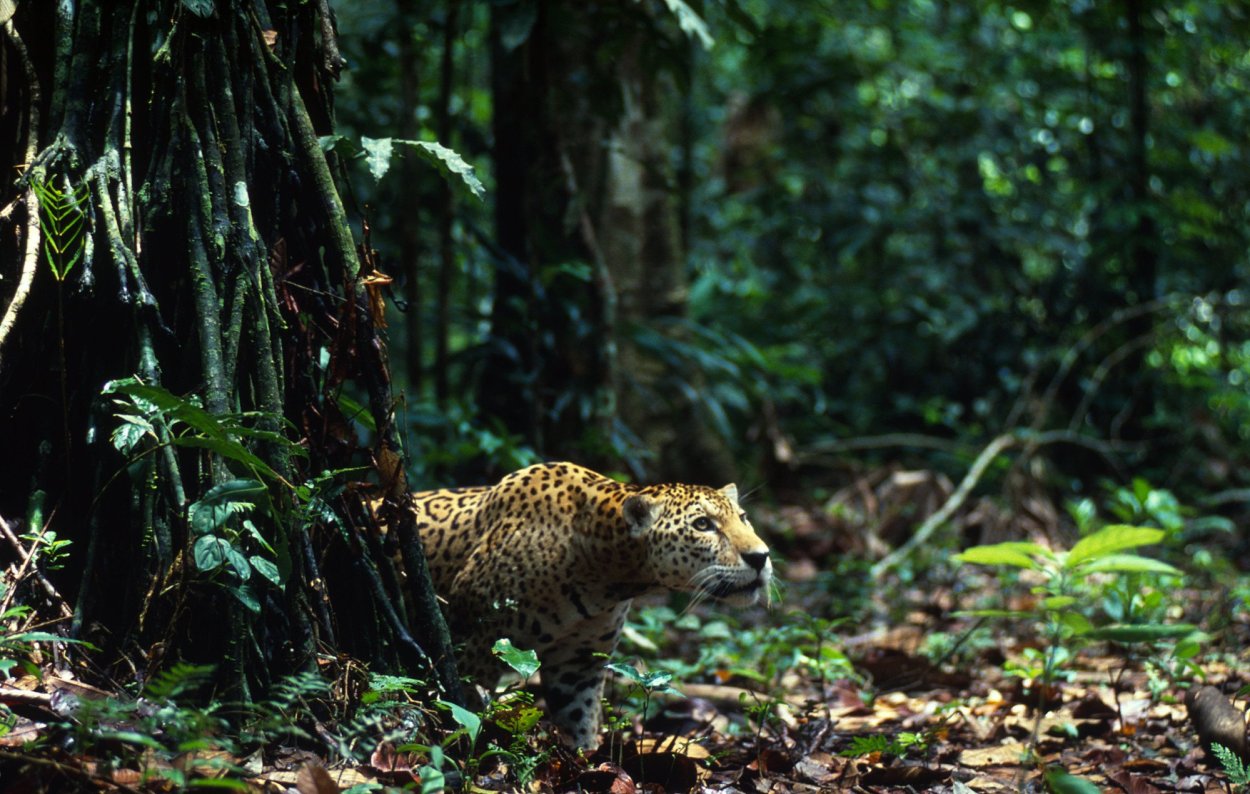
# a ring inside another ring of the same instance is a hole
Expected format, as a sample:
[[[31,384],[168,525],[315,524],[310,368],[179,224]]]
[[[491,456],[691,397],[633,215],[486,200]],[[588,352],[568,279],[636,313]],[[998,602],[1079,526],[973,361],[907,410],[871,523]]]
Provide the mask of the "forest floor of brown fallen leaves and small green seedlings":
[[[560,749],[524,695],[505,696],[480,723],[451,713],[444,733],[431,733],[439,720],[382,679],[370,679],[364,696],[339,685],[295,693],[271,709],[269,728],[254,723],[251,741],[226,740],[219,715],[196,723],[195,709],[161,711],[150,699],[89,720],[64,700],[91,688],[65,681],[48,658],[41,675],[0,691],[29,693],[25,703],[0,696],[10,709],[0,789],[328,794],[434,791],[441,781],[461,790],[612,794],[1146,794],[1231,791],[1250,781],[1236,780],[1235,769],[1230,780],[1198,735],[1240,743],[1245,753],[1242,710],[1220,694],[1244,696],[1239,689],[1250,680],[1250,623],[1229,606],[1238,603],[1231,585],[1162,594],[1172,619],[1206,630],[1194,656],[1170,641],[1055,643],[1029,616],[1040,614],[1040,595],[1028,576],[1002,578],[935,554],[874,581],[866,564],[804,538],[828,538],[829,526],[806,525],[794,513],[756,523],[768,521],[784,521],[789,533],[778,549],[788,580],[778,603],[736,614],[715,604],[636,609],[605,696],[609,730],[589,758]],[[1089,596],[1109,598],[1094,589]],[[968,614],[986,604],[1015,616]],[[1205,700],[1186,708],[1186,691]],[[396,705],[396,696],[400,708],[376,709],[379,700]],[[336,705],[308,705],[319,698]],[[360,704],[368,703],[366,719]],[[1204,713],[1196,720],[1195,710]],[[289,735],[279,736],[275,716],[291,723]],[[294,728],[301,721],[306,728]],[[441,736],[440,746],[405,744],[412,735]]]

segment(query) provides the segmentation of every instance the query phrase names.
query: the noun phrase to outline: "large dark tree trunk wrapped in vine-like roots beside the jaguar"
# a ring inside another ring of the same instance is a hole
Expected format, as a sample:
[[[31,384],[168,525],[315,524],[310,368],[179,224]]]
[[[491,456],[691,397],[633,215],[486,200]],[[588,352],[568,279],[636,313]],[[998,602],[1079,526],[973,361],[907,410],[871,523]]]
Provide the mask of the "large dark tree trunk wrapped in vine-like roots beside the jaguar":
[[[340,643],[454,695],[411,515],[405,620],[359,496],[321,476],[371,465],[404,503],[318,140],[326,4],[22,3],[5,34],[0,141],[25,169],[0,189],[0,515],[72,541],[74,630],[139,669],[218,663],[242,695]],[[340,395],[369,403],[372,450]]]

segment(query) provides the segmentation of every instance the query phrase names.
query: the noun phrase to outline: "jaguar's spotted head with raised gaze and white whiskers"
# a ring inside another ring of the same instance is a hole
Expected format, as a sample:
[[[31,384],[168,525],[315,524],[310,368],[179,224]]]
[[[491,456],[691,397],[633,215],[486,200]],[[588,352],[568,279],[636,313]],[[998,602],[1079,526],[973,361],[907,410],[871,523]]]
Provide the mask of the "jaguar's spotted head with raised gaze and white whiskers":
[[[654,584],[736,606],[769,601],[772,560],[736,485],[651,485],[626,498],[621,513],[630,535],[645,541]]]

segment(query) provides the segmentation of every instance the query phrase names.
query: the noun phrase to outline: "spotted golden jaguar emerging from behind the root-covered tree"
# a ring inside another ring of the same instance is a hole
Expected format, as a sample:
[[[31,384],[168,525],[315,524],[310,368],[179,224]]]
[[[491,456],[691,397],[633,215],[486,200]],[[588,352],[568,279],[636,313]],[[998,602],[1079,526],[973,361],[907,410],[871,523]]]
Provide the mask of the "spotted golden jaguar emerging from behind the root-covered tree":
[[[502,673],[495,640],[538,651],[548,713],[574,746],[599,744],[604,655],[631,599],[665,589],[735,605],[769,596],[769,549],[734,485],[636,486],[552,463],[412,501],[465,646],[461,671],[489,689]]]

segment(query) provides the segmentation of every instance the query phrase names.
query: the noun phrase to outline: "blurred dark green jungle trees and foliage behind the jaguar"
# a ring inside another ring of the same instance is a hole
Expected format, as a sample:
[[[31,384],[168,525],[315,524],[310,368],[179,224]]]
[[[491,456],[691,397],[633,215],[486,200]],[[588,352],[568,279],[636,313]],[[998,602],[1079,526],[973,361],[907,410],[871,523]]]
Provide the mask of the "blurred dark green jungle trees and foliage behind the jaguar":
[[[486,184],[449,224],[428,169],[352,174],[406,309],[392,349],[431,473],[484,450],[460,421],[505,449],[709,480],[716,461],[771,489],[854,460],[959,474],[1028,429],[1062,434],[1034,464],[1068,494],[1244,485],[1241,9],[698,10],[340,10],[340,133],[436,138]],[[501,80],[535,99],[499,108]],[[524,199],[546,214],[524,256],[491,234],[512,145],[556,194]],[[608,341],[614,371],[591,375],[576,356]],[[682,466],[652,415],[728,455]]]

